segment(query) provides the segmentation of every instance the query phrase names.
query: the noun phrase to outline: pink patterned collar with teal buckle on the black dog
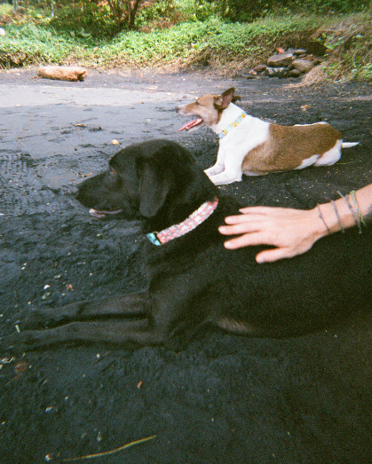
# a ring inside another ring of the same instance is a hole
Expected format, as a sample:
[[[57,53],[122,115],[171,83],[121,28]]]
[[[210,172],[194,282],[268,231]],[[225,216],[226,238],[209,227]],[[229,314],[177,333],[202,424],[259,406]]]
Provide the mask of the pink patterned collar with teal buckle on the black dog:
[[[171,225],[162,232],[147,233],[147,239],[154,243],[154,245],[163,245],[167,243],[167,241],[177,239],[187,232],[193,231],[199,224],[202,224],[203,221],[210,217],[217,206],[218,198],[215,197],[213,201],[206,201],[203,203],[200,208],[196,209],[196,211],[188,216],[182,223]]]

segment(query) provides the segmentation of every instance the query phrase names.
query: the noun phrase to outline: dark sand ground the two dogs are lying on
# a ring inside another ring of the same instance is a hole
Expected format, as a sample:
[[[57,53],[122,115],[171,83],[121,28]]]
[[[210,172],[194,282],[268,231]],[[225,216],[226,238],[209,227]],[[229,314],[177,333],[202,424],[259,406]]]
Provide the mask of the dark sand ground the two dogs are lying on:
[[[138,224],[91,218],[68,185],[147,138],[176,140],[209,167],[217,138],[204,129],[177,132],[186,120],[175,107],[197,95],[233,85],[249,114],[282,124],[327,121],[345,141],[360,141],[330,168],[221,187],[243,204],[310,208],[372,182],[368,83],[289,88],[276,79],[97,71],[61,83],[35,75],[0,73],[0,336],[15,330],[17,311],[144,285]],[[179,353],[0,352],[0,464],[63,462],[149,436],[156,437],[89,461],[370,463],[370,327],[367,316],[290,340],[208,333]]]

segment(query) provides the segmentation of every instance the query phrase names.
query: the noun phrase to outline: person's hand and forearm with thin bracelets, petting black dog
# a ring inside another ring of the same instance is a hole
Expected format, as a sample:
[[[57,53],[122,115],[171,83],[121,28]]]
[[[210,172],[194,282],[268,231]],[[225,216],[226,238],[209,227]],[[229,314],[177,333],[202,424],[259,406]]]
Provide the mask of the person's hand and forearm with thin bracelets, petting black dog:
[[[261,251],[257,263],[273,262],[305,253],[316,240],[329,233],[359,225],[372,213],[372,184],[343,198],[303,210],[292,208],[242,208],[241,215],[226,217],[218,230],[223,235],[239,235],[225,247],[271,245]]]

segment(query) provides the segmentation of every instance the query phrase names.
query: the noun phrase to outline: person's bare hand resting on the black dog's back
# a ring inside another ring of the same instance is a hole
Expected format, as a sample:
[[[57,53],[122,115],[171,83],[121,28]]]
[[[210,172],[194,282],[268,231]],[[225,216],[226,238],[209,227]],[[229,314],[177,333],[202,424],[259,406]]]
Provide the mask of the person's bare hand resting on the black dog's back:
[[[242,208],[241,215],[228,216],[227,225],[218,231],[223,235],[240,235],[225,242],[228,249],[251,245],[271,245],[261,251],[257,263],[268,263],[305,253],[313,243],[328,233],[317,208]]]

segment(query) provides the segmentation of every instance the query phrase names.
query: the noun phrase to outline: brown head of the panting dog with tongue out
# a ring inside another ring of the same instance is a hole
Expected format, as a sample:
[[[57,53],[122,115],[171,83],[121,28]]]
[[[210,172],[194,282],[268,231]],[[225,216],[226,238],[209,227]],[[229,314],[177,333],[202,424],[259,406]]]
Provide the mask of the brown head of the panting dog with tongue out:
[[[203,95],[197,98],[194,103],[189,103],[186,106],[178,107],[178,114],[182,116],[198,116],[193,121],[186,122],[181,129],[192,131],[200,129],[203,126],[211,127],[218,124],[221,114],[230,103],[235,103],[241,99],[237,95],[234,95],[235,89],[231,87],[225,90],[221,95]]]

